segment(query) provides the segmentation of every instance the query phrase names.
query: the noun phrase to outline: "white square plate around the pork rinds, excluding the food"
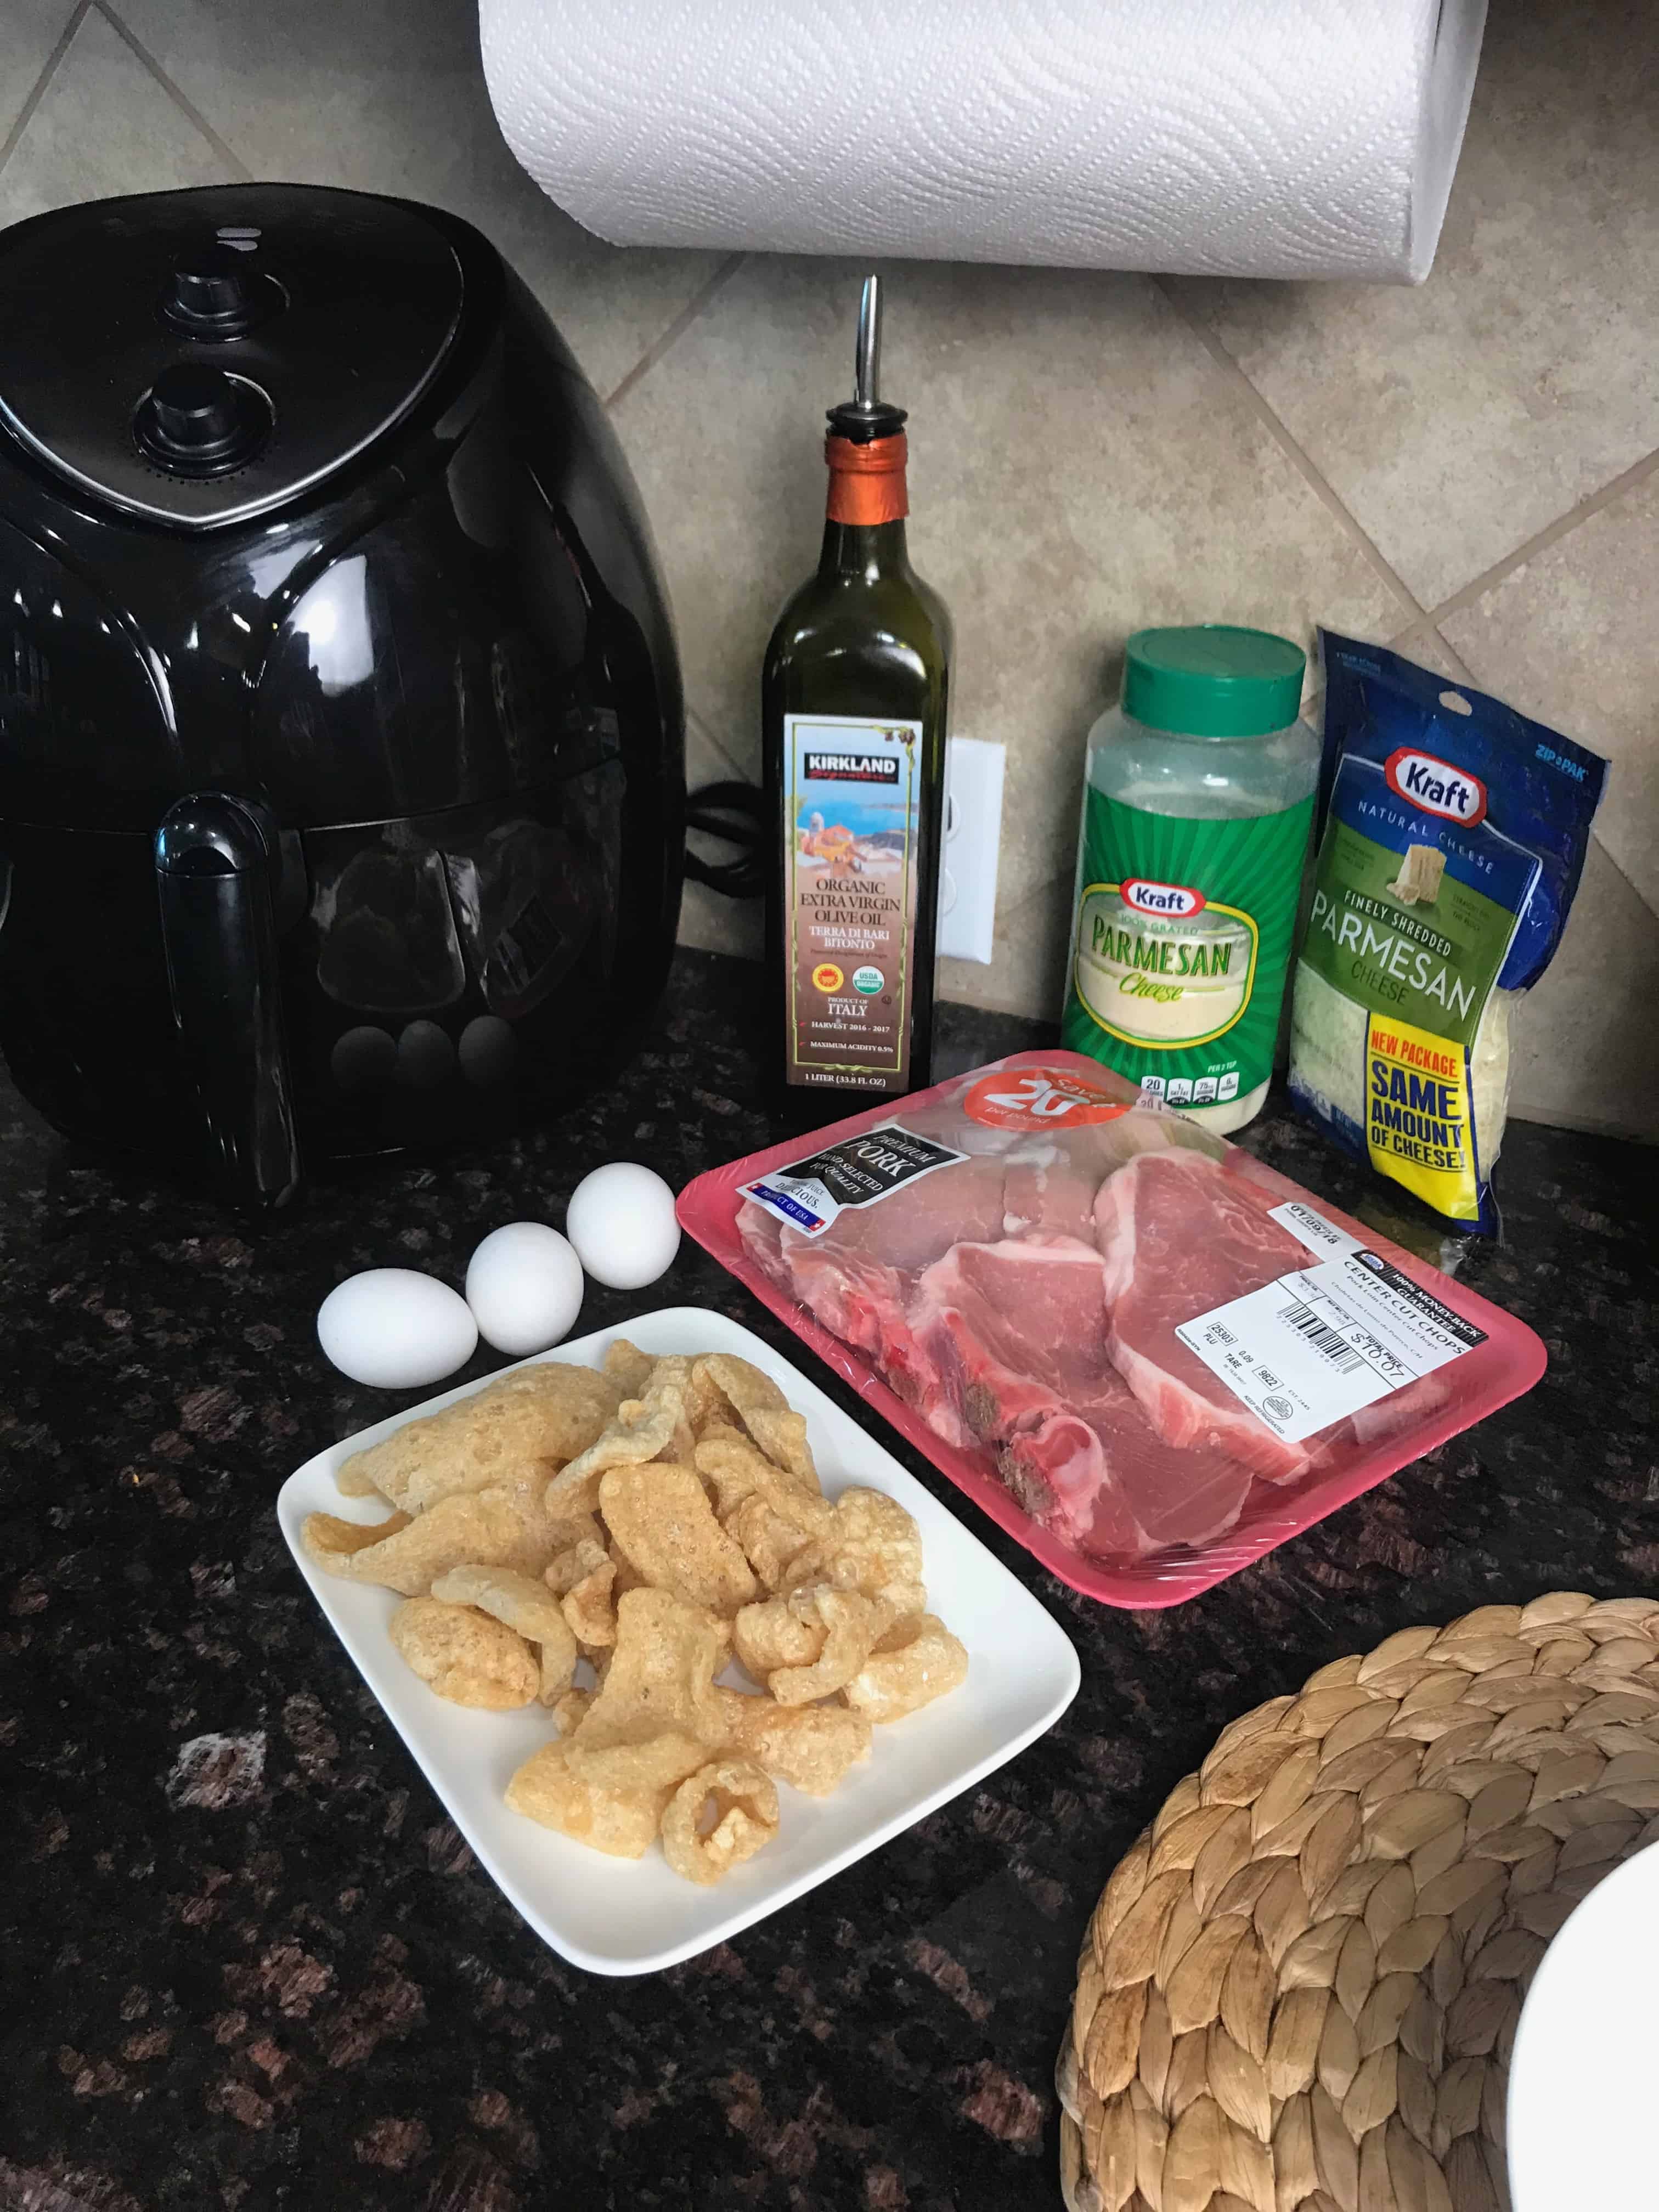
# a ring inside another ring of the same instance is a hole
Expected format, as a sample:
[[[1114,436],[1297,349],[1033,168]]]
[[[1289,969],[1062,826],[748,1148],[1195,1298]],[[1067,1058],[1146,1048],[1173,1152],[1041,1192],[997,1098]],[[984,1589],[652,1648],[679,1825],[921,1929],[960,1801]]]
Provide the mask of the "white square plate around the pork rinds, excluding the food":
[[[655,1354],[737,1352],[770,1374],[790,1405],[807,1416],[827,1495],[860,1484],[887,1491],[916,1515],[927,1601],[969,1650],[960,1690],[878,1728],[867,1765],[854,1767],[834,1796],[810,1798],[779,1785],[783,1820],[776,1840],[717,1887],[684,1882],[668,1871],[659,1849],[639,1860],[606,1858],[509,1812],[502,1792],[520,1761],[553,1734],[549,1714],[540,1705],[469,1712],[434,1697],[387,1637],[400,1599],[392,1590],[323,1575],[305,1557],[299,1531],[307,1513],[380,1517],[378,1500],[341,1498],[336,1491],[334,1469],[343,1460],[378,1444],[403,1422],[471,1396],[495,1376],[442,1391],[319,1451],[283,1484],[276,1517],[334,1635],[511,1905],[575,1966],[655,1973],[790,1905],[1004,1765],[1053,1728],[1077,1694],[1082,1674],[1071,1639],[1024,1584],[858,1422],[750,1329],[723,1314],[677,1305],[557,1345],[542,1358],[593,1365],[617,1336]]]

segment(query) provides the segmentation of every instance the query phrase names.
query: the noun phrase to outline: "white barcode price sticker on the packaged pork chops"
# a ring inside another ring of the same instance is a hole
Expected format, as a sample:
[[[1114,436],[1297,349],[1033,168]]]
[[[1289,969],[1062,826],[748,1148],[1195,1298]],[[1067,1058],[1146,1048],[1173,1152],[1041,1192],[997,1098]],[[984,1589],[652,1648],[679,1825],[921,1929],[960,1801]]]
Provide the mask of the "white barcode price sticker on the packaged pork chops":
[[[1175,1334],[1287,1444],[1486,1343],[1484,1329],[1363,1245],[1281,1274]]]

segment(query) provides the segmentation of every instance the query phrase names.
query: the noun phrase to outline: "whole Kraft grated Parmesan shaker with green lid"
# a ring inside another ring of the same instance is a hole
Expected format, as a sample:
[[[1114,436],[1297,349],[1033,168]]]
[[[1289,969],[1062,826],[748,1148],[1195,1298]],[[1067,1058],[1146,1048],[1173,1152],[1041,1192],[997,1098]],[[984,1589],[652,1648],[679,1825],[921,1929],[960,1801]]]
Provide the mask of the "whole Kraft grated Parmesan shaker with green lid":
[[[1062,1040],[1203,1121],[1267,1097],[1318,783],[1287,637],[1137,630],[1088,732]]]

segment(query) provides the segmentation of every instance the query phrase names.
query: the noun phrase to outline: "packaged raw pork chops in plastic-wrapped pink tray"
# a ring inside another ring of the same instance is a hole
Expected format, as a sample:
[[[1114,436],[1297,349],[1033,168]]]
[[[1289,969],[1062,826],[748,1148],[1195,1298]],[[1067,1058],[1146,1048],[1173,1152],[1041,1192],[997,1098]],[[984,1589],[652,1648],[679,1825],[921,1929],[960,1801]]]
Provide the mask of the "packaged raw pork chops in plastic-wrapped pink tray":
[[[1544,1371],[1511,1314],[1082,1053],[714,1168],[679,1219],[1115,1606],[1194,1597]]]

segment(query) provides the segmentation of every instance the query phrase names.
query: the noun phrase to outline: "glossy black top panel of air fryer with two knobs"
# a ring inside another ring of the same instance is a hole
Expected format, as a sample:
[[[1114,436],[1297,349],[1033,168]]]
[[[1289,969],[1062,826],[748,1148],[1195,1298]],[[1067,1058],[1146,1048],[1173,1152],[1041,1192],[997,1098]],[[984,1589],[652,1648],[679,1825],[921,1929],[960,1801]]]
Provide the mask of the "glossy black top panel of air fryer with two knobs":
[[[303,186],[153,192],[0,232],[0,418],[164,522],[257,515],[414,407],[460,323],[449,239]]]

